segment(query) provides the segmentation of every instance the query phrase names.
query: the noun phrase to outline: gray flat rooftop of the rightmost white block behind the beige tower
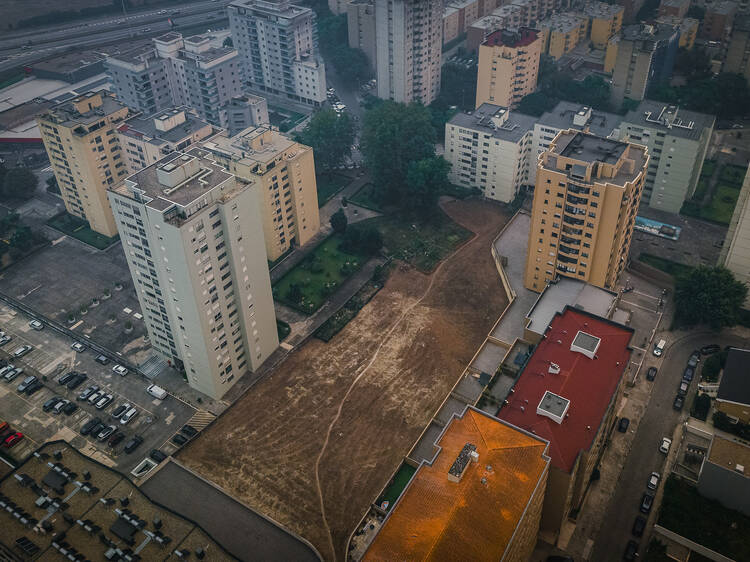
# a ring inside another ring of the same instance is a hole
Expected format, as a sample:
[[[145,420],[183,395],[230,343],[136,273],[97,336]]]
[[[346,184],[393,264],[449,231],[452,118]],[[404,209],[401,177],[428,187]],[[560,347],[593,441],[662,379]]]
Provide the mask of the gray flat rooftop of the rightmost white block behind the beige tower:
[[[675,111],[676,113],[674,113]],[[697,111],[670,106],[660,101],[643,100],[637,108],[625,115],[622,122],[664,131],[674,137],[698,140],[705,128],[713,128],[716,117],[707,113],[698,113]],[[692,127],[685,128],[675,123],[686,126],[692,123]]]

